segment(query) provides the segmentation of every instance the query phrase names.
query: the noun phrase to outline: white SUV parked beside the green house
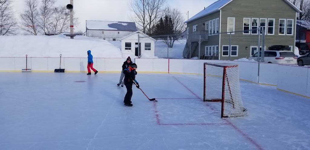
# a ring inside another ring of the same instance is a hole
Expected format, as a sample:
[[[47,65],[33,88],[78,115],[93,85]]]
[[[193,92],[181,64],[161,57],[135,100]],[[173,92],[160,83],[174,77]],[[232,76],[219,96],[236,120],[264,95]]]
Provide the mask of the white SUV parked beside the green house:
[[[249,57],[249,60],[253,59],[258,61],[257,52]],[[260,52],[261,56],[261,52]],[[297,56],[292,51],[288,50],[265,50],[264,62],[273,64],[297,64]]]

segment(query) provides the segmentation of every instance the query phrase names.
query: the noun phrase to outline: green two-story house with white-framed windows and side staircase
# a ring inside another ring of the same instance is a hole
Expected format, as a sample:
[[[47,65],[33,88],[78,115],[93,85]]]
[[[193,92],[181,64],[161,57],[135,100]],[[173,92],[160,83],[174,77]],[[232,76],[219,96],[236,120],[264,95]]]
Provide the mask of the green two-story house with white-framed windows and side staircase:
[[[289,0],[218,0],[184,22],[188,38],[183,56],[215,60],[228,60],[228,56],[230,60],[249,58],[258,50],[256,29],[260,23],[264,24],[265,49],[289,45],[294,50],[298,12],[301,10]]]

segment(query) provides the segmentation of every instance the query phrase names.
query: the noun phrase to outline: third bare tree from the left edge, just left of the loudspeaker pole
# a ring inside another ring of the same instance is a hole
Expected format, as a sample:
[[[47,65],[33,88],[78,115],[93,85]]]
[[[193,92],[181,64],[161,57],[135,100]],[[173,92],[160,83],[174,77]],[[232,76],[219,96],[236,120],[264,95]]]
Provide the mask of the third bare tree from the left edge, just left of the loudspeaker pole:
[[[48,31],[48,23],[51,22],[51,18],[53,16],[53,6],[55,4],[55,0],[42,0],[42,5],[38,11],[38,25],[45,35]]]

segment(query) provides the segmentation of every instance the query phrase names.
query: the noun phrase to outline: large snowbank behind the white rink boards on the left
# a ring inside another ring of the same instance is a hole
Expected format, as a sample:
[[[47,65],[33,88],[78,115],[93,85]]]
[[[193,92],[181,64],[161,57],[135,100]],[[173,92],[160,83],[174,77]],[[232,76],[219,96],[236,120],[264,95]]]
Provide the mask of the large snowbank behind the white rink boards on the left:
[[[74,39],[64,34],[54,36],[15,35],[0,36],[0,57],[87,57],[127,58],[119,48],[106,40],[77,35]]]

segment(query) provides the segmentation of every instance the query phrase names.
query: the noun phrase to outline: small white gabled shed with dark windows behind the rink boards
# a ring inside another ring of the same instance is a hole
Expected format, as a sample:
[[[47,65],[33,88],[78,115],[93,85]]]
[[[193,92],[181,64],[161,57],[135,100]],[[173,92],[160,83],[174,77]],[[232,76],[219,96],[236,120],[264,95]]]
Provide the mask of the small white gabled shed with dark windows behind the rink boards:
[[[138,35],[140,37],[140,52],[138,53]],[[144,38],[141,38],[144,37]],[[120,39],[122,42],[122,51],[131,52],[135,56],[140,54],[140,58],[156,58],[155,57],[155,42],[157,40],[144,34],[142,31],[135,31]]]

